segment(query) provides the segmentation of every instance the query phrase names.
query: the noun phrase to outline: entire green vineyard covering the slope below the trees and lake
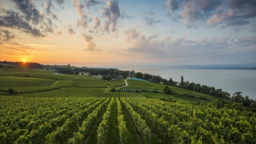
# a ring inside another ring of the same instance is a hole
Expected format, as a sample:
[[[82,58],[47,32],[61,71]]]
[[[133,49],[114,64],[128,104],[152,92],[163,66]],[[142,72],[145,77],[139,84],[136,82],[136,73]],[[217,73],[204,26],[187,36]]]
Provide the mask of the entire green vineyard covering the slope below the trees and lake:
[[[124,79],[105,82],[84,76],[46,79],[6,73],[0,76],[0,91],[5,92],[0,93],[0,144],[256,143],[256,113],[236,110],[236,103],[232,109],[218,109],[211,104],[217,99],[212,96],[171,87],[177,93],[207,97],[204,104],[205,100],[164,93],[109,91],[108,85],[118,87]],[[10,87],[20,93],[7,93]],[[128,80],[124,88],[161,91],[163,87]]]

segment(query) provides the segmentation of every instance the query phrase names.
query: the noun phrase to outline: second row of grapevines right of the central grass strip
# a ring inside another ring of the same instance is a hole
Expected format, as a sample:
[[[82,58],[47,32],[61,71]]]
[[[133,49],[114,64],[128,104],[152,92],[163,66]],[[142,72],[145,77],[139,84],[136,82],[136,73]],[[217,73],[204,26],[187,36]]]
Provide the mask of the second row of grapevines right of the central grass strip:
[[[144,143],[147,143],[147,144],[150,143],[151,131],[147,126],[147,123],[145,122],[145,120],[143,120],[141,116],[136,111],[133,110],[131,105],[129,105],[129,103],[127,103],[127,101],[125,101],[124,98],[121,98],[120,102],[124,106],[124,108],[127,110],[133,125],[135,125],[137,132],[139,132]]]

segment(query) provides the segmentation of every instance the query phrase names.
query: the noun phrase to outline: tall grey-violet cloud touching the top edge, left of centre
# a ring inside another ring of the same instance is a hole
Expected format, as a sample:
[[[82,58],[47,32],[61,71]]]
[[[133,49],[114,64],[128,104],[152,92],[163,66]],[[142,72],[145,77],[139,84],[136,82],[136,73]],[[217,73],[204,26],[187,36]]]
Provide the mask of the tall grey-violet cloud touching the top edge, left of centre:
[[[108,7],[105,5],[104,9],[101,10],[101,14],[107,18],[107,21],[105,21],[104,23],[103,29],[109,32],[109,26],[111,26],[112,32],[115,32],[117,20],[121,17],[118,1],[109,0],[107,4]]]

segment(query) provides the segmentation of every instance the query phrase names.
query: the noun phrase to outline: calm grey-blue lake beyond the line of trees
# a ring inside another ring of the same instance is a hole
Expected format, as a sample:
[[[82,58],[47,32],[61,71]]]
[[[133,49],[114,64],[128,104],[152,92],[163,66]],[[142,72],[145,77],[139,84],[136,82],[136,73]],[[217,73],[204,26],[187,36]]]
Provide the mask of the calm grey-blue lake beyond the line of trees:
[[[131,69],[129,69],[131,70]],[[159,75],[167,80],[180,82],[181,76],[189,83],[199,83],[216,89],[227,91],[232,96],[235,92],[242,92],[242,96],[249,96],[256,100],[256,70],[247,69],[172,69],[172,68],[137,68],[135,72]]]

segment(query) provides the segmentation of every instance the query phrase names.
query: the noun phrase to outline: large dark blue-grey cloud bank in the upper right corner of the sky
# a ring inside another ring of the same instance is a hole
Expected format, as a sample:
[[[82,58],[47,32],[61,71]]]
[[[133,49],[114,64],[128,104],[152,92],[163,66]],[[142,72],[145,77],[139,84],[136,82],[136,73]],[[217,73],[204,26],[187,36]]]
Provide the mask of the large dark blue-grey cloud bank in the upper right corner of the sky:
[[[164,7],[173,13],[178,11],[187,28],[195,27],[197,21],[207,21],[212,27],[222,23],[241,26],[256,17],[254,0],[167,0]]]

